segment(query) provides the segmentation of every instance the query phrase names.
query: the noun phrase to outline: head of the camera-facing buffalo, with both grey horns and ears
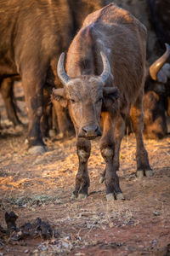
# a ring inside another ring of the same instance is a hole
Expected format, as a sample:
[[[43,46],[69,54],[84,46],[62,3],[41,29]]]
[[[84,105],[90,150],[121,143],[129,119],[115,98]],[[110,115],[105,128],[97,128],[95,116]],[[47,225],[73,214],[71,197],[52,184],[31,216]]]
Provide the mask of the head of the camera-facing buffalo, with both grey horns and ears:
[[[65,73],[65,54],[59,57],[58,75],[64,88],[55,89],[53,96],[63,107],[69,103],[78,137],[93,139],[101,136],[99,119],[102,106],[112,108],[111,105],[119,97],[116,87],[105,87],[111,75],[111,67],[107,57],[102,52],[100,54],[104,68],[99,76],[81,75],[74,78]]]

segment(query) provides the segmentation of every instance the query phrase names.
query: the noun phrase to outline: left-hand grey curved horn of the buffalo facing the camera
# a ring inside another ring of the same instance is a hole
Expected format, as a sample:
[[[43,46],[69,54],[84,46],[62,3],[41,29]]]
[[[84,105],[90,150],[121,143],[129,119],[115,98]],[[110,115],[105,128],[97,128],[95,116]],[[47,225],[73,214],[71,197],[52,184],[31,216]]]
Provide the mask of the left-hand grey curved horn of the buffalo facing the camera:
[[[60,56],[59,56],[59,61],[58,61],[58,65],[57,65],[57,73],[59,76],[59,79],[61,80],[61,82],[64,85],[67,85],[70,78],[69,76],[65,73],[65,67],[64,67],[64,59],[65,59],[65,53],[63,52]]]

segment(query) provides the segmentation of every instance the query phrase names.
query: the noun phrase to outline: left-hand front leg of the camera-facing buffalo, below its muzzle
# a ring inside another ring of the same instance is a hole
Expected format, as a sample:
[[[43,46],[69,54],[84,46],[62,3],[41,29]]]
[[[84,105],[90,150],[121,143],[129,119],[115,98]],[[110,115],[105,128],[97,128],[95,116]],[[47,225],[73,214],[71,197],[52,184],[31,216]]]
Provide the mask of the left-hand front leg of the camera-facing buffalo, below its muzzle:
[[[90,141],[78,138],[77,139],[77,155],[79,160],[78,172],[76,177],[75,190],[72,193],[71,199],[86,198],[88,196],[88,187],[90,180],[88,177],[88,158],[90,156],[91,143]]]

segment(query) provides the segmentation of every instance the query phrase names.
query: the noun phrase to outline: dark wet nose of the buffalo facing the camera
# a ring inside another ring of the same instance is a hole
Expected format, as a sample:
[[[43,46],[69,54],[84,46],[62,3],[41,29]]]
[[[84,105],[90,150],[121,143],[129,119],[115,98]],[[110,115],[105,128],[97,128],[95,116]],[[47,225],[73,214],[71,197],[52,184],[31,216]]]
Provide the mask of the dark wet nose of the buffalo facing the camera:
[[[98,125],[83,126],[79,132],[79,137],[98,137],[101,136],[101,131]]]

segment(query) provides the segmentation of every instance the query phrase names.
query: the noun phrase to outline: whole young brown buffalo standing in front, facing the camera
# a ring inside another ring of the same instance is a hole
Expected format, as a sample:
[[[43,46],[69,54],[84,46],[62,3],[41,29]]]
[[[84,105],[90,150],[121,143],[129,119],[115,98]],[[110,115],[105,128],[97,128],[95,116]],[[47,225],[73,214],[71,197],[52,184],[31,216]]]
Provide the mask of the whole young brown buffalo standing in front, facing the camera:
[[[79,168],[73,198],[88,195],[90,140],[102,135],[106,198],[124,199],[116,171],[128,113],[137,143],[137,177],[152,175],[142,135],[145,55],[145,27],[114,3],[88,15],[68,50],[66,72],[65,54],[60,55],[58,75],[64,88],[54,90],[53,96],[69,105],[77,133]]]

